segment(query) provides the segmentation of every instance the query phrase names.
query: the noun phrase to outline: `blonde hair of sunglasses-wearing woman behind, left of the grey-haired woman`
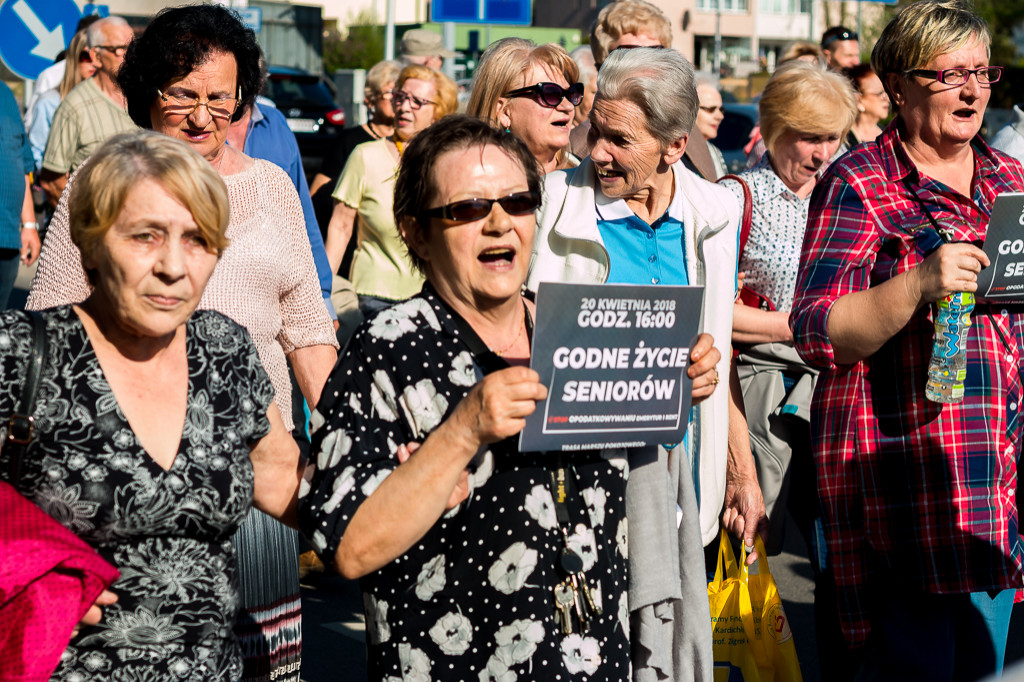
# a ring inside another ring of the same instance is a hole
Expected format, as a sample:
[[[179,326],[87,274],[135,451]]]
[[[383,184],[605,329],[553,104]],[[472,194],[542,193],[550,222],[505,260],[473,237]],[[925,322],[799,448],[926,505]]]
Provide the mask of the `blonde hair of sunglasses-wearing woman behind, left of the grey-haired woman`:
[[[560,45],[539,46],[531,40],[503,38],[492,43],[480,57],[466,113],[497,125],[498,100],[519,87],[523,74],[538,63],[561,74],[569,85],[580,78],[575,61]]]

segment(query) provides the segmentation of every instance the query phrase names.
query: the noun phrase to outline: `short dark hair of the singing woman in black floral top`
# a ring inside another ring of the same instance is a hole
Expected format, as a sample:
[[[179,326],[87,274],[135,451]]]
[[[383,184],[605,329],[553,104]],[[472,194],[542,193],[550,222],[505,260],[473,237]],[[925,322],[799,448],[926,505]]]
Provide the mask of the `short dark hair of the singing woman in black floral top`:
[[[525,142],[475,116],[446,116],[418,133],[401,155],[401,166],[394,183],[394,224],[400,225],[402,218],[414,218],[412,224],[407,224],[423,230],[426,236],[430,229],[430,218],[422,213],[437,195],[434,177],[437,160],[449,152],[488,144],[516,160],[526,174],[527,188],[543,197],[541,166]],[[424,271],[426,263],[413,249],[409,249],[409,257],[417,268]]]

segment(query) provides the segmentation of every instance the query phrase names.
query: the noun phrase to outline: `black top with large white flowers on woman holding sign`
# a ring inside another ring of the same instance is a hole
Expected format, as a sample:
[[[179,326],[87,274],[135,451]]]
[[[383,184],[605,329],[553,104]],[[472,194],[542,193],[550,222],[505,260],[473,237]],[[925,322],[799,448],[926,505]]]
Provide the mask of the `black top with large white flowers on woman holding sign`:
[[[313,413],[300,522],[330,561],[359,505],[482,376],[456,313],[426,286],[356,331]],[[464,324],[464,323],[463,323]],[[494,356],[492,356],[494,357]],[[469,498],[361,581],[371,680],[627,680],[625,451],[568,460],[569,543],[603,606],[590,632],[555,622],[563,546],[554,454],[503,441],[470,467]]]

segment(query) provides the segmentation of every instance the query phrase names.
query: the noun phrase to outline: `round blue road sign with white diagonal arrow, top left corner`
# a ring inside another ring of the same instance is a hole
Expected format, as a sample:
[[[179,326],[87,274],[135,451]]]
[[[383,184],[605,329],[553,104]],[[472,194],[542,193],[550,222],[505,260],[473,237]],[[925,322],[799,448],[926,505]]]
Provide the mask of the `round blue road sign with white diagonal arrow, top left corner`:
[[[22,78],[35,80],[71,42],[80,18],[74,0],[3,0],[0,58]]]

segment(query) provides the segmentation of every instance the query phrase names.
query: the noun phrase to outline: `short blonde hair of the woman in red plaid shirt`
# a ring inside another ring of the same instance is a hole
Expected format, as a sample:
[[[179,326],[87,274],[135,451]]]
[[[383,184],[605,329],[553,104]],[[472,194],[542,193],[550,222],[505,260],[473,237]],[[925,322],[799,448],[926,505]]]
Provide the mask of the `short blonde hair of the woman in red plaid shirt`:
[[[889,74],[902,77],[940,54],[954,52],[979,39],[990,51],[992,37],[984,19],[963,0],[920,0],[886,25],[871,50],[871,69],[895,104]]]

